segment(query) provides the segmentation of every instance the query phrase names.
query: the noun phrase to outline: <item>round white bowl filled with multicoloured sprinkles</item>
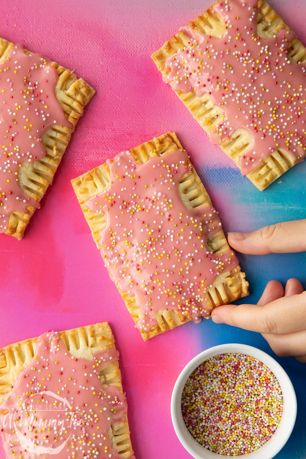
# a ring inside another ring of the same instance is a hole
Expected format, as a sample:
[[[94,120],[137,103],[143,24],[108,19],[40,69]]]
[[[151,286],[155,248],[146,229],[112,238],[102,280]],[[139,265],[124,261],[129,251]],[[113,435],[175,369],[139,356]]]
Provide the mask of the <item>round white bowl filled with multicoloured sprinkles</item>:
[[[244,344],[211,347],[193,358],[171,399],[174,430],[195,459],[273,458],[290,437],[296,409],[284,369]]]

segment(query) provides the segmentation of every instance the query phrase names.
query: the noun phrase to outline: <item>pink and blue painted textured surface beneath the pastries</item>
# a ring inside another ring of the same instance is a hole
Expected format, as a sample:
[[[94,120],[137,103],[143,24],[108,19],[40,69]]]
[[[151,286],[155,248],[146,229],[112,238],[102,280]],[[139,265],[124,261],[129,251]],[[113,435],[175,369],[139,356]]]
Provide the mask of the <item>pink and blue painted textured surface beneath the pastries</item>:
[[[257,191],[223,151],[211,146],[200,125],[162,83],[150,58],[165,37],[210,4],[211,0],[88,0],[84,8],[80,0],[67,0],[63,9],[61,0],[32,0],[27,7],[21,0],[1,1],[0,36],[23,43],[27,37],[29,49],[44,52],[67,68],[75,66],[97,94],[24,239],[0,238],[0,346],[46,329],[67,330],[108,320],[121,354],[137,459],[191,458],[170,419],[172,387],[190,358],[224,342],[243,342],[273,353],[261,335],[210,320],[189,323],[144,343],[131,328],[128,311],[119,308],[122,299],[101,263],[70,179],[128,146],[175,130],[192,155],[225,231],[249,231],[306,217],[306,162],[287,172],[283,183],[276,181],[265,193]],[[305,43],[305,1],[270,4]],[[306,254],[239,255],[239,260],[252,285],[251,302],[273,278],[284,282],[298,277],[306,286]],[[277,360],[294,383],[298,422],[276,458],[305,459],[306,367],[294,358]]]

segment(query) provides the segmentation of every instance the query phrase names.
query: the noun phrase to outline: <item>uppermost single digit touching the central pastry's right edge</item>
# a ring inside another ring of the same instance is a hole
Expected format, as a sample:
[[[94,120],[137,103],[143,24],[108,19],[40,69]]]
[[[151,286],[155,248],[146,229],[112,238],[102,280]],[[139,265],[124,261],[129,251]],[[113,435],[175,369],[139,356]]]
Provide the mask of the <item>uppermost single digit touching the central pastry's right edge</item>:
[[[278,223],[252,233],[228,233],[235,250],[252,255],[306,251],[306,220]]]

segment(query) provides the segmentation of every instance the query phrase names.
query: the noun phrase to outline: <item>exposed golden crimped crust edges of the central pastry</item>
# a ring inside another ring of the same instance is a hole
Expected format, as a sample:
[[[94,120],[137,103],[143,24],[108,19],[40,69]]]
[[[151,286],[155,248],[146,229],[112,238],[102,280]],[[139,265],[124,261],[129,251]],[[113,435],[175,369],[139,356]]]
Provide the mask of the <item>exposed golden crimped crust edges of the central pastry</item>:
[[[145,142],[136,148],[132,148],[130,152],[137,162],[143,163],[148,161],[150,157],[160,156],[178,151],[178,155],[182,146],[175,133],[168,132],[167,134],[156,137],[149,142]],[[192,167],[191,163],[190,166]],[[88,210],[85,202],[92,196],[103,192],[109,184],[109,168],[106,163],[92,169],[86,174],[72,180],[72,186],[77,195],[78,202],[81,205],[83,214],[91,230],[91,234],[97,247],[100,249],[100,231],[106,225],[104,213],[94,213]],[[179,194],[186,208],[197,207],[204,203],[211,205],[210,197],[202,184],[198,174],[192,167],[192,170],[184,175],[183,180],[178,185]],[[216,235],[208,240],[208,246],[211,247],[214,253],[228,250],[228,242],[221,229]],[[237,266],[233,271],[223,272],[215,280],[213,287],[208,290],[208,308],[212,310],[221,304],[228,304],[238,298],[245,297],[249,294],[248,282],[245,280],[245,273],[242,273],[240,267]],[[119,289],[118,289],[119,290]],[[135,297],[130,297],[128,293],[120,291],[120,294],[128,308],[129,313],[135,323],[139,322],[140,309],[135,300]],[[152,336],[156,336],[164,331],[177,327],[192,320],[189,316],[186,317],[179,311],[175,310],[160,310],[157,317],[157,324],[153,325],[150,331],[139,330],[141,336],[146,341]]]

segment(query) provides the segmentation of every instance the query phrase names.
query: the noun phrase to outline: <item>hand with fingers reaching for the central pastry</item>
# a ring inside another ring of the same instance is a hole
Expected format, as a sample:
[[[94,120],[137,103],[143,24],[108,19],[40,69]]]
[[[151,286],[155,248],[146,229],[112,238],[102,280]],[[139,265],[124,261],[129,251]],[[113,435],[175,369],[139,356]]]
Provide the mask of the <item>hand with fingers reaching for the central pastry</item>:
[[[229,244],[237,251],[264,255],[306,251],[306,220],[280,223],[253,233],[229,233]],[[259,331],[279,356],[294,355],[306,363],[306,291],[297,279],[289,279],[285,290],[271,280],[257,305],[219,306],[211,313],[216,323]]]

